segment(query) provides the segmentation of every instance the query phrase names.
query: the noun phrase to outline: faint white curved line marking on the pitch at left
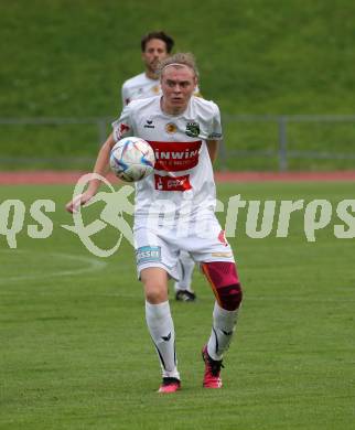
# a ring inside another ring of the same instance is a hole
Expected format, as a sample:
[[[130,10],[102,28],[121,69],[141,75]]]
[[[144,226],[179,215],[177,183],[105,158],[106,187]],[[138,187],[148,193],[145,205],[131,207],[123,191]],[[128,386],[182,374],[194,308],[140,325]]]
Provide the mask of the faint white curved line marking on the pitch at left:
[[[10,249],[0,249],[0,252],[13,252]],[[17,252],[29,254],[30,250],[17,250]],[[76,256],[74,254],[62,254],[62,252],[46,252],[46,257],[67,259],[71,261],[77,261],[80,266],[87,265],[87,267],[78,267],[76,269],[71,270],[57,270],[57,271],[42,271],[41,273],[35,275],[21,275],[21,276],[10,276],[0,278],[0,284],[7,283],[11,281],[22,281],[22,280],[33,280],[33,279],[42,279],[42,278],[53,278],[53,277],[63,277],[63,276],[77,276],[82,273],[88,273],[92,271],[97,271],[104,269],[107,266],[105,261],[98,261],[95,258]],[[41,259],[41,254],[39,254],[39,260]],[[42,267],[43,269],[43,267]]]

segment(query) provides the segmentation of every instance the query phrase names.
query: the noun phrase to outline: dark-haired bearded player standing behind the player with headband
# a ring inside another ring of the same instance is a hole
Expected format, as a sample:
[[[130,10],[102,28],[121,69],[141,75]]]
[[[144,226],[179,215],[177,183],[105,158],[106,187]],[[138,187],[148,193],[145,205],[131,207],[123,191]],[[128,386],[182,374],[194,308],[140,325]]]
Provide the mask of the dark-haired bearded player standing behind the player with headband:
[[[144,72],[126,80],[121,88],[122,106],[139,98],[161,95],[159,80],[159,64],[166,58],[174,46],[173,39],[163,31],[151,32],[141,40],[142,61]],[[198,87],[194,95],[200,95]],[[196,294],[192,289],[192,275],[194,261],[189,252],[182,250],[179,256],[180,280],[174,283],[175,299],[179,301],[193,302]]]

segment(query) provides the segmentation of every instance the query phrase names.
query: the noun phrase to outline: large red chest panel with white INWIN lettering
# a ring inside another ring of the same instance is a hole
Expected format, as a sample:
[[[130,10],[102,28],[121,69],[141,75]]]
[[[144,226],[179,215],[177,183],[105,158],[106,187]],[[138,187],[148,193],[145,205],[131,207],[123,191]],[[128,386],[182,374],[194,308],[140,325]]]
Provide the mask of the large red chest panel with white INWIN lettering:
[[[193,142],[148,141],[155,154],[155,170],[179,172],[193,169],[198,164],[201,140]]]

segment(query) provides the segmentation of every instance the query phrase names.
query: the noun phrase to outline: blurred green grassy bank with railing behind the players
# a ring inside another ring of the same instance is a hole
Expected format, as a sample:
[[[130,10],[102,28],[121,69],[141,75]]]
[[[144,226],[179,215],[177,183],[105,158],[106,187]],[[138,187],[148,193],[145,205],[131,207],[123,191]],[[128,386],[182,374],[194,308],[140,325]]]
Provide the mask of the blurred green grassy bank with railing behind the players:
[[[222,110],[217,170],[355,163],[355,3],[348,0],[0,1],[0,169],[89,170],[142,72],[140,39],[192,51]]]

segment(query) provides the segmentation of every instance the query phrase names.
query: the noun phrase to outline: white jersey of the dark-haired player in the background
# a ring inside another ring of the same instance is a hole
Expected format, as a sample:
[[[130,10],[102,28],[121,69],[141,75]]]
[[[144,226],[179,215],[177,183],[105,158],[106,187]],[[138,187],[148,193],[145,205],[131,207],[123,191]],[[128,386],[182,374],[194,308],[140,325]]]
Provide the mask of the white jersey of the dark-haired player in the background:
[[[146,73],[141,73],[123,83],[121,89],[122,106],[139,98],[154,97],[161,94],[160,80],[151,79]],[[195,88],[194,95],[200,96],[198,87]]]

